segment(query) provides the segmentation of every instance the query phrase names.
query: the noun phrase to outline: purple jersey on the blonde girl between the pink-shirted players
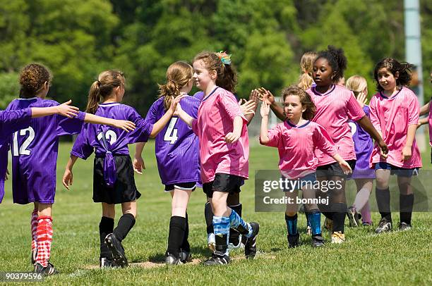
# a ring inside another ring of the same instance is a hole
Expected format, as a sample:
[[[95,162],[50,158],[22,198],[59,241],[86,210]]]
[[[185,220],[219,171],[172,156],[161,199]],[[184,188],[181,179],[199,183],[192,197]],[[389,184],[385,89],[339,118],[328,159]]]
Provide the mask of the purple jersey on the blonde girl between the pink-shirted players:
[[[363,106],[363,111],[366,113],[366,116],[369,116],[369,106]],[[369,168],[369,159],[371,158],[373,149],[371,135],[364,131],[356,121],[349,120],[348,124],[351,128],[352,141],[354,141],[354,149],[356,151],[356,168],[354,168],[351,178],[374,179],[375,172]]]

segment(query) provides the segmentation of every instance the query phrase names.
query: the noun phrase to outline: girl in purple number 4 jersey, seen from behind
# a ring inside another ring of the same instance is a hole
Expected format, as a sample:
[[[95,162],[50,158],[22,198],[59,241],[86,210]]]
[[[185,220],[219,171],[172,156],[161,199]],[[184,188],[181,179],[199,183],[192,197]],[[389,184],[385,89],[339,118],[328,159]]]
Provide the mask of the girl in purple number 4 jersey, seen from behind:
[[[193,87],[193,68],[185,61],[172,63],[167,70],[167,82],[160,85],[160,98],[150,107],[145,120],[155,123],[171,106],[173,98],[188,94]],[[185,97],[182,108],[193,118],[197,117],[200,100]],[[144,143],[136,144],[133,165],[136,170],[143,168]],[[182,264],[191,260],[191,247],[188,242],[188,214],[186,212],[191,192],[200,182],[198,137],[178,117],[173,117],[169,125],[156,136],[155,151],[157,168],[165,185],[165,192],[172,196],[171,218],[169,221],[168,247],[165,263]]]

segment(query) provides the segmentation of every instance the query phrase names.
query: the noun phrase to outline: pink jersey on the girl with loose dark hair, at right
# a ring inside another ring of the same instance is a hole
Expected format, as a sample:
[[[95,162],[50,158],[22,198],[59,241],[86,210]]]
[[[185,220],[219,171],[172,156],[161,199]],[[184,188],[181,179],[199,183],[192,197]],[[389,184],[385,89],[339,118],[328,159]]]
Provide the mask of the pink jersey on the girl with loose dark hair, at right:
[[[400,168],[421,167],[421,156],[416,139],[412,143],[412,157],[402,161],[402,149],[407,142],[409,125],[419,123],[419,101],[416,94],[407,87],[392,97],[385,97],[381,92],[371,99],[371,121],[376,130],[383,135],[388,147],[388,158],[380,156],[380,148],[375,144],[371,156],[371,168],[378,162],[387,162]]]

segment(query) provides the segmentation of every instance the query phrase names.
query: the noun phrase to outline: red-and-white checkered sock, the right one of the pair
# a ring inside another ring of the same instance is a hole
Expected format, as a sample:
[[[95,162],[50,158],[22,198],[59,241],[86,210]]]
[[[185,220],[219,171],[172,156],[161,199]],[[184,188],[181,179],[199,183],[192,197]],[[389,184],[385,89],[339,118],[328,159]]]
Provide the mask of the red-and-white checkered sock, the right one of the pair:
[[[48,266],[52,243],[52,218],[51,216],[40,216],[37,222],[37,257],[36,263]]]

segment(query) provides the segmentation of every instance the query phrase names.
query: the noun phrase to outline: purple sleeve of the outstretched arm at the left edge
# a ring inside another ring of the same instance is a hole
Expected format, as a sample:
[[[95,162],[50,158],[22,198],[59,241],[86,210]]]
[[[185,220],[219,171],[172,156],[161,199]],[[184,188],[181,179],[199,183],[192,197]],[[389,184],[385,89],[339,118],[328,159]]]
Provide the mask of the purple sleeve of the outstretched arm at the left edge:
[[[25,108],[11,111],[0,111],[1,137],[11,135],[30,124],[32,109]]]

